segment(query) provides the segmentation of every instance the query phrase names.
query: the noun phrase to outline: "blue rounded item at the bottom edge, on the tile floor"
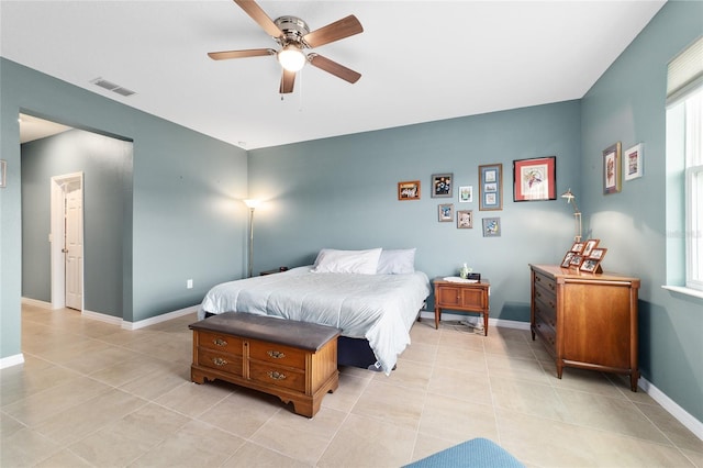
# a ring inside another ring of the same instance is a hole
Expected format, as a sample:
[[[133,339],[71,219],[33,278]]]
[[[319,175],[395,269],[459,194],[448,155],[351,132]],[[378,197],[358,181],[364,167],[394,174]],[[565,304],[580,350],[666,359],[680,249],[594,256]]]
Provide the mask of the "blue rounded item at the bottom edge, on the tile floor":
[[[472,438],[449,447],[405,468],[448,468],[448,467],[500,467],[524,468],[517,458],[488,438]]]

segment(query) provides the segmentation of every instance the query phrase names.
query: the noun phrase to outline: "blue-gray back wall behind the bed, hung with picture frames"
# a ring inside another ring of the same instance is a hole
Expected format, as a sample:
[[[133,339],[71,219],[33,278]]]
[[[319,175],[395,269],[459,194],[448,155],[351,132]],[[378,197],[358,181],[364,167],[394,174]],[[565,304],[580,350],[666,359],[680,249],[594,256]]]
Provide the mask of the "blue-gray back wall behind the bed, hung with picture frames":
[[[557,157],[557,194],[579,191],[579,101],[468,116],[249,152],[256,212],[255,270],[312,263],[321,247],[416,247],[416,267],[456,275],[462,263],[491,281],[491,316],[529,321],[528,263],[559,263],[573,239],[563,199],[513,202],[513,160]],[[478,167],[503,165],[503,210],[479,211]],[[431,176],[472,186],[431,198]],[[420,180],[421,200],[399,201],[398,182]],[[473,229],[438,222],[437,207],[473,210]],[[500,218],[500,237],[481,220]]]

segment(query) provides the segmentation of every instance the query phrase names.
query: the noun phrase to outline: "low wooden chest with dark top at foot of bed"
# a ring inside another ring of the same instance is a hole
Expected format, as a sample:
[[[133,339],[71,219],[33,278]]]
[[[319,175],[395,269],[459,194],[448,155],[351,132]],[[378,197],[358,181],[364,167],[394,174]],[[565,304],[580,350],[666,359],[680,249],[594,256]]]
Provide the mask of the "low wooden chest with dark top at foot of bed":
[[[293,402],[308,417],[339,385],[339,330],[243,312],[213,315],[193,331],[191,380],[224,380]]]

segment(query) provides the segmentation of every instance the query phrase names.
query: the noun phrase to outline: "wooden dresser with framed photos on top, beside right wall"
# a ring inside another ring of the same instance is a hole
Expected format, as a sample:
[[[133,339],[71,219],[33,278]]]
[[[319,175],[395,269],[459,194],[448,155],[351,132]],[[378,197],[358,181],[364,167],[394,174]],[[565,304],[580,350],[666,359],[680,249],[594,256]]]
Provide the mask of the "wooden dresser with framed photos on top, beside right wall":
[[[629,376],[637,391],[637,292],[639,279],[531,265],[532,338],[538,335],[563,367]]]

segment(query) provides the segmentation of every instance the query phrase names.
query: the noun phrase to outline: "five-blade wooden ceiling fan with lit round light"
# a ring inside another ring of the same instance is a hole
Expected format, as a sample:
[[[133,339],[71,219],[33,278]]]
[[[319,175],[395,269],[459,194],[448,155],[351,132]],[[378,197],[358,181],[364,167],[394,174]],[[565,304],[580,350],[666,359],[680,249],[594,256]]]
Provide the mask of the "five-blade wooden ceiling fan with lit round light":
[[[355,83],[361,78],[361,75],[357,71],[323,57],[317,53],[311,52],[310,54],[305,54],[303,52],[304,48],[320,47],[321,45],[364,32],[361,23],[359,23],[359,20],[357,20],[354,14],[311,32],[308,24],[300,18],[280,16],[271,20],[255,1],[234,0],[234,2],[252,16],[267,34],[274,37],[280,46],[280,49],[250,48],[244,51],[211,52],[208,56],[213,60],[276,55],[283,68],[279,88],[281,94],[293,92],[295,73],[302,69],[305,63],[350,83]]]

